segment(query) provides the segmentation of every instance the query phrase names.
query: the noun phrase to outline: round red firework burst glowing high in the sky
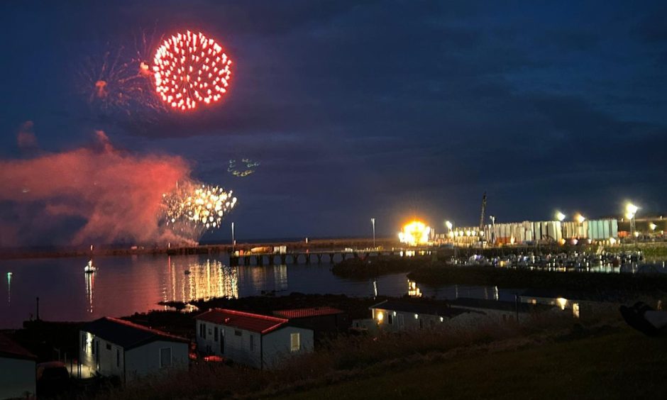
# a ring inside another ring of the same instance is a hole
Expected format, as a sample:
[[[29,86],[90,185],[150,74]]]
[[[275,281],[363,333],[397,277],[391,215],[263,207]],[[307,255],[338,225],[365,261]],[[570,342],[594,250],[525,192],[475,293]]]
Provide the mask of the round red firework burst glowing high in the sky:
[[[175,109],[210,104],[226,92],[231,60],[222,47],[202,33],[177,33],[155,52],[153,70],[158,96]]]

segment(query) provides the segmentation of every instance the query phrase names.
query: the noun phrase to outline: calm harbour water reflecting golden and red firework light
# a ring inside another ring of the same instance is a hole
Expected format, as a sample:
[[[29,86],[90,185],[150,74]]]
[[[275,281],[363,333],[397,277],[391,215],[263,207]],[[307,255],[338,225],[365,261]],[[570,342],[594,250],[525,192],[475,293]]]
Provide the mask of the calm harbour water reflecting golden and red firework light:
[[[189,301],[211,297],[243,297],[276,291],[302,293],[377,294],[402,296],[405,274],[375,282],[341,279],[331,265],[228,267],[228,258],[206,256],[96,257],[94,274],[84,274],[87,258],[0,260],[0,328],[19,328],[36,316],[50,321],[86,321],[101,316],[165,309],[158,301]],[[189,274],[185,271],[189,270]],[[11,274],[9,274],[11,272]],[[425,296],[453,299],[514,299],[514,291],[493,287],[421,288]]]

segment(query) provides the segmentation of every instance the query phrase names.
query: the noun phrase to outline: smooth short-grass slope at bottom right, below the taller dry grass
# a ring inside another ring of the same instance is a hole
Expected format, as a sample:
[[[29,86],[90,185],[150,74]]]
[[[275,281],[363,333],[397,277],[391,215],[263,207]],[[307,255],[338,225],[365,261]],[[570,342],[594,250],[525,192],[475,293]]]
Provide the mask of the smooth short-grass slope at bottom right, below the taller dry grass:
[[[285,399],[658,399],[667,393],[667,338],[630,328],[538,348],[394,370]]]

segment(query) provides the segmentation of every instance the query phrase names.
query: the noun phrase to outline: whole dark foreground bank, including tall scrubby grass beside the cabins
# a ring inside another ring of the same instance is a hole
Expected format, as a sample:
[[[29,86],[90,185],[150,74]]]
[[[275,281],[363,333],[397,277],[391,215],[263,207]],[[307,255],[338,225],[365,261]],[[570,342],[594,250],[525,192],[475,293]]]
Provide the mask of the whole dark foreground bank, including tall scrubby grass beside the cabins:
[[[667,338],[615,314],[333,340],[280,370],[196,362],[95,399],[664,399]]]

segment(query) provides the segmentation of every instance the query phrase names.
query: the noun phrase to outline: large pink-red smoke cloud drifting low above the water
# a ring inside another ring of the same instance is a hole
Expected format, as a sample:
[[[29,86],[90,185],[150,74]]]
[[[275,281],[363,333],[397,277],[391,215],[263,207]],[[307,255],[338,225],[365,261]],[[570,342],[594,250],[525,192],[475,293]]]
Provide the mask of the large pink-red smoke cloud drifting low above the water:
[[[17,212],[13,221],[0,219],[5,227],[0,245],[23,244],[21,232],[26,226],[57,229],[58,223],[72,217],[84,221],[70,233],[72,245],[176,241],[160,224],[160,204],[162,194],[188,177],[189,167],[182,158],[121,152],[102,131],[97,131],[93,148],[31,160],[0,160],[0,202],[20,210],[35,205],[30,213]]]

